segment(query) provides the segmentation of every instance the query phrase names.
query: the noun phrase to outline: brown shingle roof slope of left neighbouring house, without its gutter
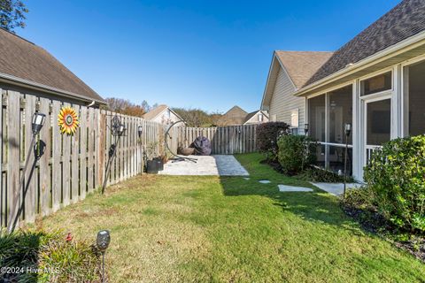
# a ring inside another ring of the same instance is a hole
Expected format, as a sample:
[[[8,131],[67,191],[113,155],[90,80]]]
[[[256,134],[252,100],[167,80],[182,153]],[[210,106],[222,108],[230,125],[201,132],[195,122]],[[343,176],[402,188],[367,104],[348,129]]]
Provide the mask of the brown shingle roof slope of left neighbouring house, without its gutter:
[[[104,99],[49,52],[0,28],[0,73],[104,103]]]

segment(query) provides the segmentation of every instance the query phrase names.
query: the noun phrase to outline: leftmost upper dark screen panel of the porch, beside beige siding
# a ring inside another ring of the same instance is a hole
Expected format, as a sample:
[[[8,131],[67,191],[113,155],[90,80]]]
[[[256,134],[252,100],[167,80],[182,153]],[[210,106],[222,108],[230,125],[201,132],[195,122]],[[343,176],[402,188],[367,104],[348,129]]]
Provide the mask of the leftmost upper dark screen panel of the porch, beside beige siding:
[[[325,117],[325,96],[308,99],[309,134],[318,142],[325,142]]]

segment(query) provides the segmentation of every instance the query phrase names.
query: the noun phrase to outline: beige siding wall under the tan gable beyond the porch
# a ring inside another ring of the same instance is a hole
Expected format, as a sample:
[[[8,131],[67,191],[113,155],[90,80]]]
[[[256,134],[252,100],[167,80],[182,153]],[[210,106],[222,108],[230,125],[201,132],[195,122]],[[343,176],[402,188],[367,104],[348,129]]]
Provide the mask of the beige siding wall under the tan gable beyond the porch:
[[[276,115],[277,121],[282,121],[290,125],[291,111],[298,109],[298,126],[303,128],[305,124],[305,98],[293,96],[295,90],[288,74],[282,67],[279,67],[270,102],[270,117]]]

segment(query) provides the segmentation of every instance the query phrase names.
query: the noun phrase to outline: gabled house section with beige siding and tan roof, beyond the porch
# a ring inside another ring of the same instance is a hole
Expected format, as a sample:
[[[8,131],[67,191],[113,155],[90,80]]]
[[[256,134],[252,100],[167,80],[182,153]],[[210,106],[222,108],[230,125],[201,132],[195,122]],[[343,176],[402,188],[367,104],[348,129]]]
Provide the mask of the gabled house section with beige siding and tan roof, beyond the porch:
[[[332,52],[274,51],[261,102],[271,121],[285,122],[304,133],[305,98],[293,95],[331,56]]]

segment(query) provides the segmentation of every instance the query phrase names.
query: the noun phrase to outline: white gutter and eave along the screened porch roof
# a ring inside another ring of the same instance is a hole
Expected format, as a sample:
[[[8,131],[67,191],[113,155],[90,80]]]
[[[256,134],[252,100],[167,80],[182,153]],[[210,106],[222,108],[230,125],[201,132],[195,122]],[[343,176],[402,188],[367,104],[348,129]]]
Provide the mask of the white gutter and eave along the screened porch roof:
[[[400,50],[409,47],[409,45],[415,44],[413,46],[410,46],[410,49],[413,49],[415,47],[417,47],[416,45],[422,45],[425,42],[421,42],[425,40],[425,31],[422,31],[419,34],[415,34],[409,38],[407,38],[406,40],[402,41],[402,42],[398,42],[394,45],[391,45],[390,47],[378,51],[377,53],[375,53],[374,55],[371,55],[369,57],[363,58],[360,61],[354,63],[354,64],[349,64],[346,65],[343,69],[336,71],[336,73],[332,73],[329,74],[327,77],[321,79],[321,80],[317,80],[315,82],[313,82],[310,85],[305,86],[304,88],[300,88],[298,89],[298,91],[296,91],[294,93],[294,96],[303,96],[306,95],[308,92],[312,92],[315,88],[320,88],[320,87],[324,87],[326,86],[326,84],[333,82],[335,80],[339,80],[344,78],[344,76],[347,76],[351,73],[355,73],[357,71],[360,71],[362,69],[367,68],[367,66],[369,65],[373,65],[374,63],[378,63],[375,62],[378,59],[381,59],[381,61],[383,59],[385,59],[385,57],[389,57],[389,56],[395,56],[398,54],[392,54],[395,53],[397,51],[400,52]]]

